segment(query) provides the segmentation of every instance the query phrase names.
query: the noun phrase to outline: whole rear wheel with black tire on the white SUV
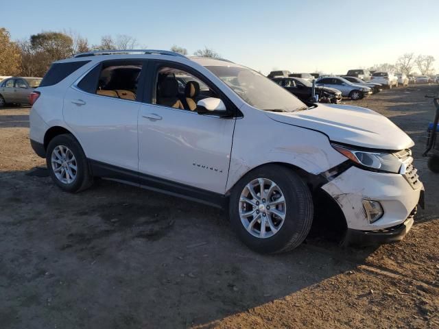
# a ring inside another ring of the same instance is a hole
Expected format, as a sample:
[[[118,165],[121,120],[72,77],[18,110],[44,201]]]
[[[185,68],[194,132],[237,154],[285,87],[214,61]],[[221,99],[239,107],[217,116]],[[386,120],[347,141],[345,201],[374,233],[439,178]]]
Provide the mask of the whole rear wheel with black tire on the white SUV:
[[[51,179],[62,191],[76,193],[93,184],[84,151],[71,134],[58,135],[50,141],[46,151],[46,163]]]

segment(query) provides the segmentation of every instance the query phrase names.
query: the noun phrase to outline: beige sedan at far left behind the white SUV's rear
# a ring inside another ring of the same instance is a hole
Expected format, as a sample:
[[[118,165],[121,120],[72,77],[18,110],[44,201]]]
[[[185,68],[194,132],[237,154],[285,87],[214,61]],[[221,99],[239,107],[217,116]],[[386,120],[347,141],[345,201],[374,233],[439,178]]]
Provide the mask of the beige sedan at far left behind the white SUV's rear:
[[[10,77],[0,83],[0,106],[29,104],[29,95],[40,85],[40,77]]]

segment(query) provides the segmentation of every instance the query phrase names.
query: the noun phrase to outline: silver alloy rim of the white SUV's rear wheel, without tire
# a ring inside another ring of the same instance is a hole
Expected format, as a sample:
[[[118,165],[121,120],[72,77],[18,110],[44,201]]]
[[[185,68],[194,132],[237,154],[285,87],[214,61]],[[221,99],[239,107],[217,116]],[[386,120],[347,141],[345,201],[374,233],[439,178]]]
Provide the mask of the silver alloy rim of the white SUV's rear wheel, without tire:
[[[56,179],[63,184],[71,184],[78,174],[76,158],[69,147],[58,145],[51,154],[51,166]]]

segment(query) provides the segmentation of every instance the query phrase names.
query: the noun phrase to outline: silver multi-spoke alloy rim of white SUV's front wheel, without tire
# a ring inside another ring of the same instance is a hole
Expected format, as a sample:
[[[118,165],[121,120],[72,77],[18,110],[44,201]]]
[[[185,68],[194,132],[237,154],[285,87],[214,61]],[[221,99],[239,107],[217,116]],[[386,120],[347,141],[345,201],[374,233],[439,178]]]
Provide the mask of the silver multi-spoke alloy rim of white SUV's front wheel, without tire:
[[[272,180],[257,178],[239,198],[239,217],[246,230],[260,239],[274,236],[285,221],[287,204],[281,188]]]

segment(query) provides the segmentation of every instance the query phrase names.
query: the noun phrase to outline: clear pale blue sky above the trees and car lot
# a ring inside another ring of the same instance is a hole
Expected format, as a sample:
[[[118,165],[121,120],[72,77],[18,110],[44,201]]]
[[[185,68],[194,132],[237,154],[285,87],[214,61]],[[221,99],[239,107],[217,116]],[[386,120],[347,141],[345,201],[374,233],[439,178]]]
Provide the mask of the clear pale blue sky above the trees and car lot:
[[[204,47],[268,74],[342,74],[394,64],[403,53],[436,58],[438,0],[41,0],[6,1],[0,26],[13,40],[43,31],[72,30],[99,44],[126,34],[149,49]]]

